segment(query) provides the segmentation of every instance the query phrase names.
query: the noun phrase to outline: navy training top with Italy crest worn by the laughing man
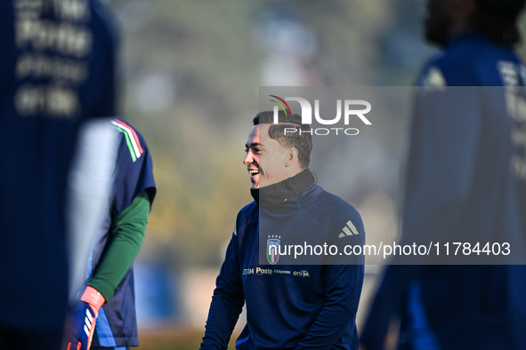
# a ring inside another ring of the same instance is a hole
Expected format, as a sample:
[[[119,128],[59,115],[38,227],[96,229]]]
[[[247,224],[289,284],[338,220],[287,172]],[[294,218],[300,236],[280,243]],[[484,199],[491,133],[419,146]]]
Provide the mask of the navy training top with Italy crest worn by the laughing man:
[[[312,175],[304,171],[296,177]],[[303,257],[312,265],[294,265],[293,257],[281,254],[271,265],[272,258],[266,256],[268,239],[278,238],[281,248],[327,243],[342,250],[364,243],[358,211],[312,179],[310,183],[278,205],[262,208],[260,198],[260,204],[239,211],[201,349],[227,348],[245,302],[247,325],[236,342],[238,349],[358,348],[355,318],[363,257],[327,254]]]

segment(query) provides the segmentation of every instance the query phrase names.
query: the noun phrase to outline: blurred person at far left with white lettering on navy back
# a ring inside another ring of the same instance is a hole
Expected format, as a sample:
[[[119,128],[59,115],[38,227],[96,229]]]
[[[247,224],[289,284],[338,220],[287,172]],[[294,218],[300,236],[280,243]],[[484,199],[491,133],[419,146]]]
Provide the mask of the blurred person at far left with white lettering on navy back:
[[[83,158],[75,155],[81,123],[116,114],[116,38],[108,10],[91,0],[3,1],[0,31],[0,348],[58,349],[70,165]],[[110,144],[98,141],[99,151]],[[108,155],[92,167],[115,162]],[[108,195],[100,189],[92,195]]]

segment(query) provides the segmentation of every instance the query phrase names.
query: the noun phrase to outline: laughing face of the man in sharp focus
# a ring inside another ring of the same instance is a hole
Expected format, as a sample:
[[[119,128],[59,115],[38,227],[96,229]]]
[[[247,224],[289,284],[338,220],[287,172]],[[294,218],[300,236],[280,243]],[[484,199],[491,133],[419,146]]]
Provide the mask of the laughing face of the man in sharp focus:
[[[243,163],[247,165],[252,188],[266,187],[288,178],[288,150],[269,137],[271,124],[255,125],[248,134]]]

